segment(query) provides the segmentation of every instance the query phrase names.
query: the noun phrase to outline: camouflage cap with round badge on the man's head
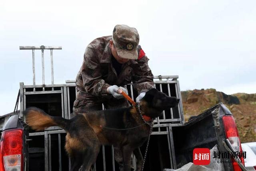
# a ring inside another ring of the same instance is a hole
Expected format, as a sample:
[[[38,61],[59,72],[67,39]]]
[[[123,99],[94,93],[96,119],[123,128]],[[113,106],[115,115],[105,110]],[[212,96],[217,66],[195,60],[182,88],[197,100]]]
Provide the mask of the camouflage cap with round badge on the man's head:
[[[138,45],[140,36],[136,28],[118,24],[113,30],[112,41],[116,46],[119,57],[124,59],[138,59]]]

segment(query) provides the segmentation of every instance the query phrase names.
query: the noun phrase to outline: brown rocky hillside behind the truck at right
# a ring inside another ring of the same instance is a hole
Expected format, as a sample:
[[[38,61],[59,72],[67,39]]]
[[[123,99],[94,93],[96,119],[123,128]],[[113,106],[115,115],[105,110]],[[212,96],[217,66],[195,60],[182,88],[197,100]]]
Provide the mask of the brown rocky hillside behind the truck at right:
[[[213,88],[182,91],[181,94],[185,121],[218,102],[223,102],[236,120],[241,142],[256,141],[256,94],[227,95]]]

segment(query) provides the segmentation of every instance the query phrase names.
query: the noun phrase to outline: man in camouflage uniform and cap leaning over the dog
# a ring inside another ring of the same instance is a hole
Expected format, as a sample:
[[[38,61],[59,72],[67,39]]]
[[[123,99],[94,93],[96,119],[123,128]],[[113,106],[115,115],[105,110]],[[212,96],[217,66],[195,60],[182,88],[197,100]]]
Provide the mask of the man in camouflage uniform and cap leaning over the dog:
[[[135,28],[116,25],[113,36],[94,39],[86,47],[84,61],[76,77],[74,114],[102,110],[102,103],[107,109],[128,107],[128,101],[117,90],[127,93],[125,86],[131,81],[139,94],[136,101],[153,88],[149,59],[138,45],[139,39]],[[116,148],[115,159],[122,164],[121,152]]]

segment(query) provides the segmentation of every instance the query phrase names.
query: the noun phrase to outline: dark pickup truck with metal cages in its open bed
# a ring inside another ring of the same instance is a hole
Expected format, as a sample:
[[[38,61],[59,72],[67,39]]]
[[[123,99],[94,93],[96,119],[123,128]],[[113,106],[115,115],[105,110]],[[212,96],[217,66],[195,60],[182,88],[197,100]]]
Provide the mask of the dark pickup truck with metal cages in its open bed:
[[[51,49],[52,51],[56,47],[20,47],[22,48],[32,49],[33,55],[35,49],[41,49],[43,58],[44,50]],[[44,75],[44,72],[42,73]],[[155,76],[154,86],[169,96],[180,98],[180,103],[175,108],[165,110],[162,117],[154,120],[144,166],[145,171],[178,169],[193,162],[194,148],[211,149],[217,144],[219,151],[223,153],[242,152],[236,123],[232,113],[224,104],[216,104],[185,123],[178,76]],[[135,99],[138,94],[134,91],[133,84],[127,85],[127,88],[129,95]],[[2,129],[0,170],[68,171],[70,159],[64,150],[66,132],[59,127],[50,127],[44,132],[35,132],[27,126],[26,116],[23,116],[22,112],[28,107],[35,106],[52,116],[70,119],[75,98],[74,81],[54,84],[53,75],[52,84],[49,85],[44,84],[44,76],[42,85],[36,85],[35,82],[33,85],[20,83],[20,114],[10,116]],[[102,107],[104,109],[104,106]],[[140,149],[144,155],[146,143]],[[235,160],[230,156],[220,155],[220,162],[223,163],[225,171],[242,170],[239,164],[244,165],[244,158],[240,157],[240,161],[238,160],[239,157]],[[132,164],[136,166],[134,156]],[[102,146],[94,164],[94,171],[119,171],[118,164],[114,160],[113,147]]]

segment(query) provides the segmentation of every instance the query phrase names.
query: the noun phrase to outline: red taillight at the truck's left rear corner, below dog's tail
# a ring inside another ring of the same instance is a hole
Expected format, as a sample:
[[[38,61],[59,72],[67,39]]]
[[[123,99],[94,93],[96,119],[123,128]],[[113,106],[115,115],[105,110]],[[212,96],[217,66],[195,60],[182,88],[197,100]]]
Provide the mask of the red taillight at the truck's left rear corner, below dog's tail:
[[[6,130],[0,140],[0,170],[22,171],[22,129]]]

